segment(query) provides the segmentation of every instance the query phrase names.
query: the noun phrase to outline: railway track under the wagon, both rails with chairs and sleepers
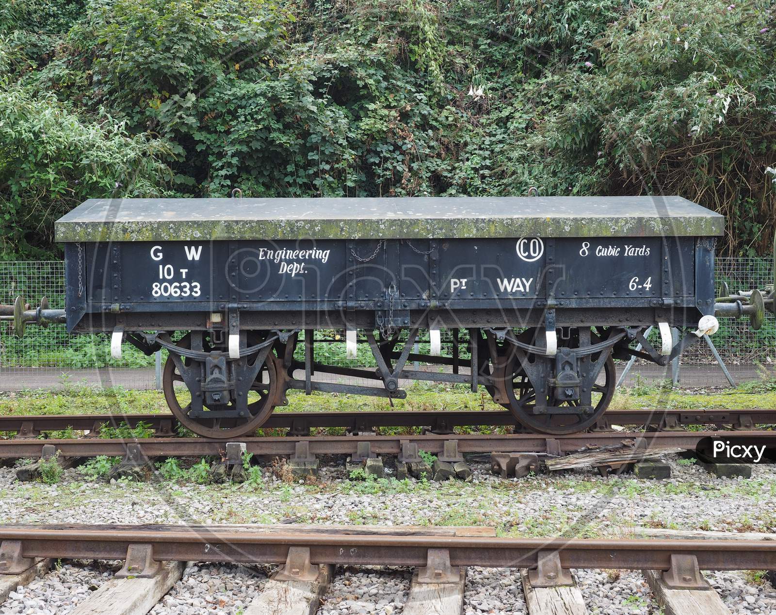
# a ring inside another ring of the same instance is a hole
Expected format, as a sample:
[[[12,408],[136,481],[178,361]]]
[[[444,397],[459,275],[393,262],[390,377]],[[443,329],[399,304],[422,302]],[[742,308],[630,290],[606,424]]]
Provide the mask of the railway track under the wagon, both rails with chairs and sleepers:
[[[369,430],[352,429],[345,436],[310,436],[311,426],[332,426],[332,424],[352,425],[358,422],[361,428],[370,426],[375,429],[383,423],[386,426],[428,425],[428,419],[437,419],[439,415],[453,415],[443,433],[377,435]],[[241,438],[234,442],[205,437],[171,437],[175,432],[174,419],[168,415],[77,415],[77,416],[16,416],[0,418],[0,429],[10,432],[16,430],[17,436],[0,440],[0,459],[47,459],[57,458],[64,467],[80,463],[88,457],[123,457],[123,463],[116,468],[116,475],[132,475],[133,478],[147,476],[142,468],[153,468],[151,463],[157,458],[167,457],[213,457],[221,460],[223,471],[232,471],[243,467],[243,454],[251,453],[265,459],[287,457],[289,470],[296,478],[317,475],[319,457],[348,456],[348,471],[362,467],[369,474],[378,477],[384,475],[383,456],[396,456],[397,478],[422,475],[435,481],[448,478],[469,480],[471,468],[466,464],[464,454],[490,454],[491,469],[502,477],[521,478],[531,471],[538,471],[542,459],[550,470],[570,469],[573,467],[597,467],[601,474],[610,471],[623,471],[630,464],[646,459],[660,457],[664,453],[696,450],[701,440],[711,436],[730,437],[735,434],[739,443],[752,443],[758,446],[767,443],[769,449],[776,448],[776,431],[741,429],[742,426],[767,424],[776,419],[774,411],[737,410],[737,411],[662,411],[612,412],[612,419],[625,424],[641,425],[643,431],[598,430],[590,433],[564,435],[546,435],[535,433],[452,433],[455,425],[502,424],[498,415],[501,412],[374,412],[361,413],[308,413],[297,415],[287,413],[279,415],[274,421],[276,427],[285,426],[286,436],[264,436]],[[374,416],[372,416],[374,415]],[[368,417],[371,420],[364,420]],[[392,419],[393,417],[393,419]],[[298,435],[294,426],[300,425],[305,435]],[[123,423],[137,426],[141,423],[153,426],[157,434],[147,438],[103,438],[96,437],[105,424]],[[685,431],[682,424],[727,424],[730,430]],[[666,429],[666,426],[669,426]],[[54,429],[83,429],[87,433],[73,439],[41,439],[41,432]],[[651,427],[651,429],[650,429]],[[674,429],[671,429],[674,428]],[[660,430],[663,429],[663,430]],[[422,452],[431,453],[438,461],[425,463]],[[573,453],[577,453],[574,455]],[[559,460],[558,457],[568,457]],[[546,456],[546,457],[543,457]],[[482,460],[480,458],[480,460]],[[352,465],[351,465],[352,464]],[[37,477],[38,466],[23,467],[17,470],[20,480],[32,480]],[[219,465],[218,462],[214,468]],[[393,466],[393,461],[390,462]],[[666,478],[670,467],[662,465],[658,474],[646,474],[647,478]],[[706,467],[719,475],[719,466]],[[217,468],[216,468],[217,469]],[[640,470],[639,470],[640,471]],[[656,471],[647,469],[648,472]],[[750,468],[740,470],[731,468],[722,471],[733,472],[726,475],[750,475]]]

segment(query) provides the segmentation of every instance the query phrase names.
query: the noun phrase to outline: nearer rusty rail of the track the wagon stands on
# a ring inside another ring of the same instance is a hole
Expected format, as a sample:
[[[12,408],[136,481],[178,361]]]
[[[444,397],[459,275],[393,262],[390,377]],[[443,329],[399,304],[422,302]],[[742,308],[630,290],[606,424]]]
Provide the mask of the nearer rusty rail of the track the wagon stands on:
[[[266,438],[242,438],[248,453],[266,456],[292,456],[296,443],[309,443],[313,455],[357,452],[359,442],[369,442],[372,453],[398,454],[403,442],[417,443],[421,450],[442,453],[445,442],[456,440],[459,453],[573,453],[584,448],[600,448],[620,443],[638,443],[646,448],[680,448],[694,450],[698,442],[708,436],[730,437],[736,440],[762,443],[771,440],[776,444],[776,431],[703,431],[703,432],[595,432],[575,433],[564,436],[541,434],[425,434],[401,436],[273,436]],[[135,440],[78,438],[75,440],[20,439],[0,441],[0,458],[41,457],[43,446],[53,446],[62,457],[121,457],[127,446],[140,447],[147,457],[206,457],[223,456],[226,440],[208,438],[146,438]]]

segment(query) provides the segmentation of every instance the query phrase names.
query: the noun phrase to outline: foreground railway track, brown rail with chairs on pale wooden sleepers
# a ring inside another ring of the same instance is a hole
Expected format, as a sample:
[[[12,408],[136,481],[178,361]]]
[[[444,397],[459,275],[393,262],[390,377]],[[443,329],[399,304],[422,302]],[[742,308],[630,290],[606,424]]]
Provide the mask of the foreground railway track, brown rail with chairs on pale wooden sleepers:
[[[78,615],[107,604],[114,615],[146,613],[187,561],[280,565],[246,615],[314,613],[345,565],[416,568],[405,615],[461,613],[470,566],[520,569],[531,615],[587,612],[572,569],[642,571],[667,613],[694,615],[726,612],[700,571],[776,568],[774,540],[514,538],[487,527],[5,525],[0,543],[0,600],[52,560],[125,561]]]

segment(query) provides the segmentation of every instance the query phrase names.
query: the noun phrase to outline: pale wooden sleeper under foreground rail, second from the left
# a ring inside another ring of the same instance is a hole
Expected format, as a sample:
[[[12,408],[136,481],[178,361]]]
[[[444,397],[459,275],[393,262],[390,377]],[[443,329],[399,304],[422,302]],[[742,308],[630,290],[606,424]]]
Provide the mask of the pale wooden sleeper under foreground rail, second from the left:
[[[151,579],[111,579],[71,615],[146,615],[183,576],[185,562],[166,561]]]

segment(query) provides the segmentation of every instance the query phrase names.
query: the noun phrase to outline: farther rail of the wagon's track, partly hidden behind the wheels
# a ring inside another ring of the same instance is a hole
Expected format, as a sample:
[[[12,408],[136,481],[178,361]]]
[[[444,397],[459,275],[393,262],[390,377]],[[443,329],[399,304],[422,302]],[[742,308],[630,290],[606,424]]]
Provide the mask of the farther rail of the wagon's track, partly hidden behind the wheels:
[[[749,425],[776,424],[776,410],[745,408],[736,410],[609,410],[604,415],[609,425],[660,426],[667,420],[676,425]],[[10,415],[0,416],[0,432],[28,430],[29,435],[43,431],[68,429],[93,430],[100,424],[118,426],[126,422],[135,427],[144,422],[158,434],[174,434],[178,419],[170,414],[109,415]],[[442,412],[274,412],[262,429],[292,429],[296,433],[321,427],[344,427],[353,432],[376,427],[431,427],[436,431],[459,426],[514,426],[511,412],[463,410]]]

